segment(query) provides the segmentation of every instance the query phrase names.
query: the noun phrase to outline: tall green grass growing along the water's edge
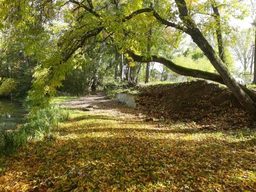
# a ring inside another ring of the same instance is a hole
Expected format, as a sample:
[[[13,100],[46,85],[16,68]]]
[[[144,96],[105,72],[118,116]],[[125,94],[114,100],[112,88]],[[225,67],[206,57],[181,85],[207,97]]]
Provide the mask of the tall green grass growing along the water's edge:
[[[27,123],[16,130],[2,132],[0,135],[0,154],[10,154],[24,147],[28,140],[37,140],[51,135],[59,122],[69,119],[69,112],[52,105],[46,109],[30,112]]]

